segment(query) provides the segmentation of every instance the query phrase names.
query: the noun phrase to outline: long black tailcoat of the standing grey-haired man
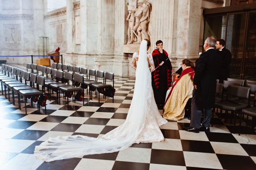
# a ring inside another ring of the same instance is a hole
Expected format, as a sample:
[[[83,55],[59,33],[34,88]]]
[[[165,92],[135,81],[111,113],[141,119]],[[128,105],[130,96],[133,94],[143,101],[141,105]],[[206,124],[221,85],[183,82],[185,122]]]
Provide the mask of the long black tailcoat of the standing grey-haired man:
[[[213,108],[220,63],[221,59],[214,49],[203,52],[196,60],[193,83],[197,86],[196,105],[199,108]]]

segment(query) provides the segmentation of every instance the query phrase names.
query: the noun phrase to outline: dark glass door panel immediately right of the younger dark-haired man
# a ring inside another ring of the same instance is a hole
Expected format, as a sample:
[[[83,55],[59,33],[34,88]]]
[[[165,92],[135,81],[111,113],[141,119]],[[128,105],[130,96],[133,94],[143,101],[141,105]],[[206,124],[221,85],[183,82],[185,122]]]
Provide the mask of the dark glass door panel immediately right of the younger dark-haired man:
[[[229,65],[231,78],[242,78],[246,14],[246,12],[228,14],[225,47],[232,54],[231,64]]]

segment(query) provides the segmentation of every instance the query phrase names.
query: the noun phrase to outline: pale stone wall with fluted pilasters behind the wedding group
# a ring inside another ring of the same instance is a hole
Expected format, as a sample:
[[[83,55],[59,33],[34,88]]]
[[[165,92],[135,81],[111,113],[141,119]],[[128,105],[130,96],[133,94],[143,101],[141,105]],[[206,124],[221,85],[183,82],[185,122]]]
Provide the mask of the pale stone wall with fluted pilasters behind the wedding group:
[[[64,64],[135,76],[130,67],[132,54],[123,53],[123,45],[128,41],[128,3],[136,5],[136,0],[66,0],[66,7],[59,0],[62,8],[56,10],[50,9],[52,0],[11,0],[12,5],[8,0],[0,2],[0,55],[42,54],[39,37],[44,36],[49,37],[49,52],[60,47]],[[163,48],[173,55],[171,63],[176,71],[183,59],[195,61],[202,51],[202,10],[226,6],[230,0],[148,2],[152,6],[150,52],[161,39]],[[7,60],[31,62],[30,57]]]

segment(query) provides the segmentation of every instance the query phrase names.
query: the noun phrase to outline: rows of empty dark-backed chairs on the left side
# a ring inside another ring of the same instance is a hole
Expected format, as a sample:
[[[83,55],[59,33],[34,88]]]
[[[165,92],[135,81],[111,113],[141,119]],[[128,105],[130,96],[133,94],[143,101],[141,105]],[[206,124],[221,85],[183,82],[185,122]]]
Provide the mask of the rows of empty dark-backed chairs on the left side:
[[[40,75],[37,74],[33,74],[33,73],[29,73],[29,72],[25,72],[23,70],[17,69],[17,68],[13,68],[11,66],[8,65],[2,65],[2,78],[3,81],[5,81],[5,79],[10,80],[7,81],[9,82],[9,84],[5,83],[4,88],[5,88],[5,97],[6,96],[6,88],[8,88],[8,92],[9,90],[12,90],[13,93],[13,104],[15,105],[15,101],[14,101],[14,93],[18,92],[15,91],[15,89],[17,88],[17,86],[19,86],[20,88],[22,87],[25,89],[30,89],[33,88],[35,84],[41,85],[42,86],[42,92],[46,92],[45,88],[48,89],[48,96],[50,97],[49,100],[51,100],[51,90],[54,90],[55,92],[57,92],[57,98],[58,98],[58,103],[60,104],[60,91],[62,91],[64,93],[64,96],[66,93],[72,93],[73,95],[73,101],[74,100],[74,94],[75,92],[79,92],[82,91],[82,96],[83,96],[83,104],[84,104],[84,89],[87,88],[89,86],[89,93],[90,93],[90,99],[92,99],[92,91],[94,90],[98,90],[99,92],[99,102],[100,102],[100,93],[104,95],[104,90],[102,89],[106,89],[106,88],[113,88],[114,89],[114,74],[113,73],[109,73],[106,72],[104,74],[104,72],[98,70],[93,70],[93,69],[89,69],[89,74],[87,74],[87,69],[86,68],[79,68],[79,72],[80,74],[77,73],[73,73],[73,72],[64,72],[61,70],[57,70],[57,69],[52,69],[50,67],[45,67],[42,65],[31,65],[31,69],[33,66],[33,70],[36,70],[35,73],[39,74],[39,72],[42,72],[42,76],[46,75],[46,77],[44,78],[43,84],[40,82],[38,84],[37,82],[37,77]],[[37,66],[37,67],[35,67]],[[30,67],[27,67],[30,68]],[[33,72],[33,70],[31,70]],[[5,71],[5,74],[3,74],[3,71]],[[70,71],[72,71],[70,69]],[[10,77],[10,75],[12,75],[12,77],[14,77],[16,75],[16,79]],[[36,76],[35,76],[36,75]],[[48,78],[48,75],[50,75],[51,77]],[[84,80],[84,75],[86,75],[86,79]],[[89,75],[89,79],[87,78]],[[90,80],[90,76],[94,76],[95,80]],[[19,81],[18,81],[18,77],[19,77]],[[105,77],[105,78],[104,78]],[[103,83],[99,83],[97,82],[98,78],[103,78]],[[25,84],[22,83],[22,79],[25,79]],[[112,85],[106,84],[106,80],[112,80],[113,81],[113,87]],[[30,86],[27,86],[27,81],[30,82]],[[69,82],[72,82],[72,85],[69,85]],[[2,83],[2,80],[1,80]],[[16,83],[17,85],[14,85],[14,83]],[[75,84],[75,86],[74,86]],[[20,90],[19,88],[19,90]],[[3,89],[3,88],[2,88]],[[87,88],[88,89],[88,88]],[[2,92],[3,94],[3,92]],[[20,93],[18,93],[18,98]],[[24,96],[21,95],[21,96]],[[114,96],[111,96],[112,98]],[[8,98],[10,101],[10,94],[8,93]],[[114,100],[114,98],[113,98]],[[20,108],[20,98],[19,98],[19,108]],[[27,110],[26,110],[27,113]]]

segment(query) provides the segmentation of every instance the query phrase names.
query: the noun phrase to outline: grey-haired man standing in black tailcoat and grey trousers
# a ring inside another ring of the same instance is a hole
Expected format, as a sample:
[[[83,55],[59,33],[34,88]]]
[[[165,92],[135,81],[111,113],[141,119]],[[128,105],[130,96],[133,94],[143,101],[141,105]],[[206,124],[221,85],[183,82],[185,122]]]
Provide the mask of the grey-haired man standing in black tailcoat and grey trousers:
[[[221,63],[220,56],[214,50],[215,45],[216,39],[209,36],[204,42],[205,52],[196,60],[190,127],[183,127],[189,132],[210,131],[211,108],[215,102],[216,77],[220,67],[219,63]],[[204,110],[204,119],[201,126],[202,110]]]

